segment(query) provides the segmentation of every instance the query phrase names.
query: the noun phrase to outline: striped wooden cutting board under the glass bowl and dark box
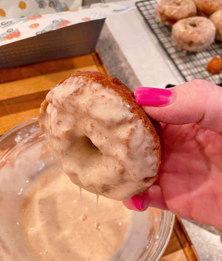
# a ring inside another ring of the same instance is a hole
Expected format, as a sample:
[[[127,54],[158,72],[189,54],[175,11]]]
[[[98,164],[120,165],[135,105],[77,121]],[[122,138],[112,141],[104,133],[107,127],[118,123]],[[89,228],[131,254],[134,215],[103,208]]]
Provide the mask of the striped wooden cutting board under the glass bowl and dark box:
[[[108,74],[98,52],[0,70],[0,135],[38,116],[39,106],[50,88],[78,70]],[[199,258],[180,218],[176,216],[172,236],[161,261],[187,260]]]

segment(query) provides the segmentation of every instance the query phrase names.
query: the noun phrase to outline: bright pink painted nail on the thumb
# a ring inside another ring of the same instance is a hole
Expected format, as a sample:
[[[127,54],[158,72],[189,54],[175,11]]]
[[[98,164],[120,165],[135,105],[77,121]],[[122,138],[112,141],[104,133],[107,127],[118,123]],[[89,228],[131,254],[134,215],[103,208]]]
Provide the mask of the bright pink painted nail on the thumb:
[[[172,92],[168,89],[138,87],[135,88],[134,95],[138,105],[153,107],[166,105],[172,99]]]

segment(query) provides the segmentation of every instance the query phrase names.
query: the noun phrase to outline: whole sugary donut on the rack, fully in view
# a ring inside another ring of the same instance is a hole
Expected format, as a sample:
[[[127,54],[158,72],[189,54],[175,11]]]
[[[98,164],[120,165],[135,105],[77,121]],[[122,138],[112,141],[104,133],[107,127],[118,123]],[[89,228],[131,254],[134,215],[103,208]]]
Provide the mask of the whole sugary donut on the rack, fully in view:
[[[172,41],[180,48],[197,52],[208,47],[215,39],[216,28],[206,17],[185,18],[172,27]]]

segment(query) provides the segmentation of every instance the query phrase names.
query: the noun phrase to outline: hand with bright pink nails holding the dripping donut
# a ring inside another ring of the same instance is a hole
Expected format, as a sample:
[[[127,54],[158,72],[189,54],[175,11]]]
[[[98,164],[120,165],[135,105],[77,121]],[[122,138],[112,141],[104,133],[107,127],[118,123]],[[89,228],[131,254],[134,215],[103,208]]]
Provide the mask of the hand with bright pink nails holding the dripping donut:
[[[222,228],[222,88],[193,80],[169,89],[136,88],[136,103],[162,122],[165,138],[157,182],[123,201]]]

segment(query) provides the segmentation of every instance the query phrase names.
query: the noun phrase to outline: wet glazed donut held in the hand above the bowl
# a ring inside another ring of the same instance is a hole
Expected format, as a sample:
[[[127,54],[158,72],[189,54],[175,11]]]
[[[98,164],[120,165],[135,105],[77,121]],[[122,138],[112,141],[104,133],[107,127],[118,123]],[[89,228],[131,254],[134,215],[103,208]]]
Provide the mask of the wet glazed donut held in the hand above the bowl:
[[[50,152],[81,188],[126,200],[149,188],[161,162],[161,126],[116,77],[77,72],[41,104]]]

